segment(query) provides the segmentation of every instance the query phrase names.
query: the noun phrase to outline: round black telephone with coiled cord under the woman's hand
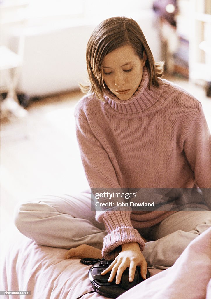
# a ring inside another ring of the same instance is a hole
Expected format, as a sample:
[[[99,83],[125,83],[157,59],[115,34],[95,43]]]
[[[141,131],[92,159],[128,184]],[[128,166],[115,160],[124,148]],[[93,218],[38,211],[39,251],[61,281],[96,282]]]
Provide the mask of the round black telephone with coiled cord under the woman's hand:
[[[82,260],[81,263],[90,265],[91,262],[85,263],[86,259]],[[88,260],[88,259],[87,259]],[[91,259],[89,259],[91,260]],[[136,286],[138,283],[144,281],[141,277],[140,267],[136,267],[134,280],[132,282],[128,281],[129,277],[129,268],[127,268],[121,277],[121,281],[119,284],[115,283],[116,277],[114,277],[112,282],[108,282],[108,278],[110,273],[105,275],[101,275],[100,273],[104,271],[113,261],[107,260],[97,260],[95,264],[89,269],[88,276],[90,283],[93,289],[98,292],[100,295],[103,295],[108,298],[117,298],[127,290],[131,289],[133,286]],[[93,262],[94,263],[94,260]],[[147,270],[147,278],[150,277],[149,271]]]

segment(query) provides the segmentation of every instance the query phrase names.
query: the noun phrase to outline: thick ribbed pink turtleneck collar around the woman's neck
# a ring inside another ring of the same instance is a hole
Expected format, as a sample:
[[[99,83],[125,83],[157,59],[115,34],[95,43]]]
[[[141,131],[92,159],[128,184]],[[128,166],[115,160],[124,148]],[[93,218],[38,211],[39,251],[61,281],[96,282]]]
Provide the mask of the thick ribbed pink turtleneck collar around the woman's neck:
[[[116,112],[122,114],[132,115],[144,112],[153,106],[161,97],[165,84],[161,79],[159,80],[161,83],[160,87],[151,85],[149,89],[149,75],[147,67],[144,67],[141,83],[129,100],[120,100],[109,89],[106,89],[104,91],[105,103],[109,104]]]

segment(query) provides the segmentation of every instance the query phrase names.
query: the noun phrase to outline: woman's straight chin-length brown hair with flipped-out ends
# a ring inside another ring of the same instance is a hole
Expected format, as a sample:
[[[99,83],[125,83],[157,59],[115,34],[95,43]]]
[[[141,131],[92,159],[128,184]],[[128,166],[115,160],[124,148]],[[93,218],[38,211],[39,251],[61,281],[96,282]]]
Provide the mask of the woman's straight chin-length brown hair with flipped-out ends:
[[[146,66],[149,73],[149,89],[151,84],[159,86],[158,78],[163,75],[163,62],[155,62],[145,36],[138,25],[131,18],[113,17],[101,22],[93,31],[87,43],[86,60],[90,84],[82,85],[84,93],[95,93],[103,100],[103,60],[111,51],[130,44],[135,54],[143,59],[147,55]]]

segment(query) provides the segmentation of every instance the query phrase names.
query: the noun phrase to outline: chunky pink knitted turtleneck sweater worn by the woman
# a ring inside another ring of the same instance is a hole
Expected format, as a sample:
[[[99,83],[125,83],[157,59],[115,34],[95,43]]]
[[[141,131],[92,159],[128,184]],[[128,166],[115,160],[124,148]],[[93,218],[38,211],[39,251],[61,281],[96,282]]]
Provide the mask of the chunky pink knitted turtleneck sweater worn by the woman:
[[[148,89],[148,72],[129,100],[109,90],[104,102],[84,96],[75,109],[76,133],[91,188],[208,188],[210,132],[201,103],[167,80]],[[161,222],[172,211],[97,211],[107,229],[103,257],[121,245],[144,241],[137,228]]]

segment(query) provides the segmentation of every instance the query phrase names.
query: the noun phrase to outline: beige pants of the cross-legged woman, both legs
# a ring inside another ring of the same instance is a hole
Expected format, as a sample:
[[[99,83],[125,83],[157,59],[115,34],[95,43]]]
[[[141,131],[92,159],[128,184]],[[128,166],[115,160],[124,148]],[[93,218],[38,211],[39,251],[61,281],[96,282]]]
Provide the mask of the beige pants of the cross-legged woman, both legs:
[[[38,245],[70,249],[81,244],[102,248],[104,225],[91,211],[90,193],[45,196],[15,210],[15,224]],[[170,267],[187,245],[211,226],[210,211],[179,211],[157,225],[139,230],[147,242],[143,255],[149,267]]]

